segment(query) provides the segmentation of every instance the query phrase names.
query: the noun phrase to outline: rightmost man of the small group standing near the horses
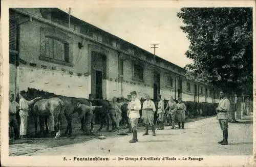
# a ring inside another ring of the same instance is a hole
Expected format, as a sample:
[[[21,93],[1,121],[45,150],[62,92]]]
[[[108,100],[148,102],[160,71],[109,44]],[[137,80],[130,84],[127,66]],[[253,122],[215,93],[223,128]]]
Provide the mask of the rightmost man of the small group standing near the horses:
[[[180,128],[184,129],[184,123],[185,123],[185,117],[186,117],[186,105],[182,102],[182,98],[178,98],[178,104],[177,104],[177,117],[178,117],[178,125]]]

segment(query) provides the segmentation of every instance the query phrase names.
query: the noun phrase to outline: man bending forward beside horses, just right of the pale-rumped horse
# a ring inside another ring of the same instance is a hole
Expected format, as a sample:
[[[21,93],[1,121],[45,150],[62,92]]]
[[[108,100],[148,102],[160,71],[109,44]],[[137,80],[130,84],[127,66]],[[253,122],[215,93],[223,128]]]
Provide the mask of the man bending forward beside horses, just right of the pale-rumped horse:
[[[87,106],[85,104],[81,104],[80,102],[77,103],[77,109],[78,109],[78,115],[81,121],[85,121],[85,128],[86,128],[86,135],[93,134],[92,131],[90,131],[90,123],[93,118],[93,110],[90,106]],[[84,123],[84,122],[83,122]],[[83,126],[82,123],[82,126]],[[83,129],[83,127],[81,127]]]

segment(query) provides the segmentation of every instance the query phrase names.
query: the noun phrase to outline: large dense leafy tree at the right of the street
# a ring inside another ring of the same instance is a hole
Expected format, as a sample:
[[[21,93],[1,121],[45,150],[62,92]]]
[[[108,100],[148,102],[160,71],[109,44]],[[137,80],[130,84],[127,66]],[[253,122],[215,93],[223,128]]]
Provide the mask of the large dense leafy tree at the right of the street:
[[[194,60],[186,75],[225,89],[229,97],[252,97],[252,8],[182,8],[177,16],[190,41],[185,55]]]

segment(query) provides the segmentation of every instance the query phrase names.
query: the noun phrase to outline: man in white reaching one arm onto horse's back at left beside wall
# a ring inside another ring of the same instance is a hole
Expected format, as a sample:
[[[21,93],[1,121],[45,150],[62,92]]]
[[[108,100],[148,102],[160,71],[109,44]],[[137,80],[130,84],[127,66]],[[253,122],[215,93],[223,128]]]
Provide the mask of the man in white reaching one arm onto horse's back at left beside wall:
[[[19,100],[19,116],[20,116],[20,129],[19,135],[20,138],[23,138],[27,135],[27,126],[28,126],[28,116],[29,116],[29,106],[34,104],[36,101],[41,99],[41,97],[36,97],[31,101],[27,99],[27,93],[25,91],[20,92]]]

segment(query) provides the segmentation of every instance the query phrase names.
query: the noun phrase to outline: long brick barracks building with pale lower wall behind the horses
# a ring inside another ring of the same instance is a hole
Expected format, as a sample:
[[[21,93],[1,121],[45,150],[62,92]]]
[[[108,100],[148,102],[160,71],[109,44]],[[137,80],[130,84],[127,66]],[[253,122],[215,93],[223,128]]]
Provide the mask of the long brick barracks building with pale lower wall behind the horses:
[[[218,102],[218,91],[187,80],[185,69],[57,8],[10,9],[10,90],[58,95]]]

